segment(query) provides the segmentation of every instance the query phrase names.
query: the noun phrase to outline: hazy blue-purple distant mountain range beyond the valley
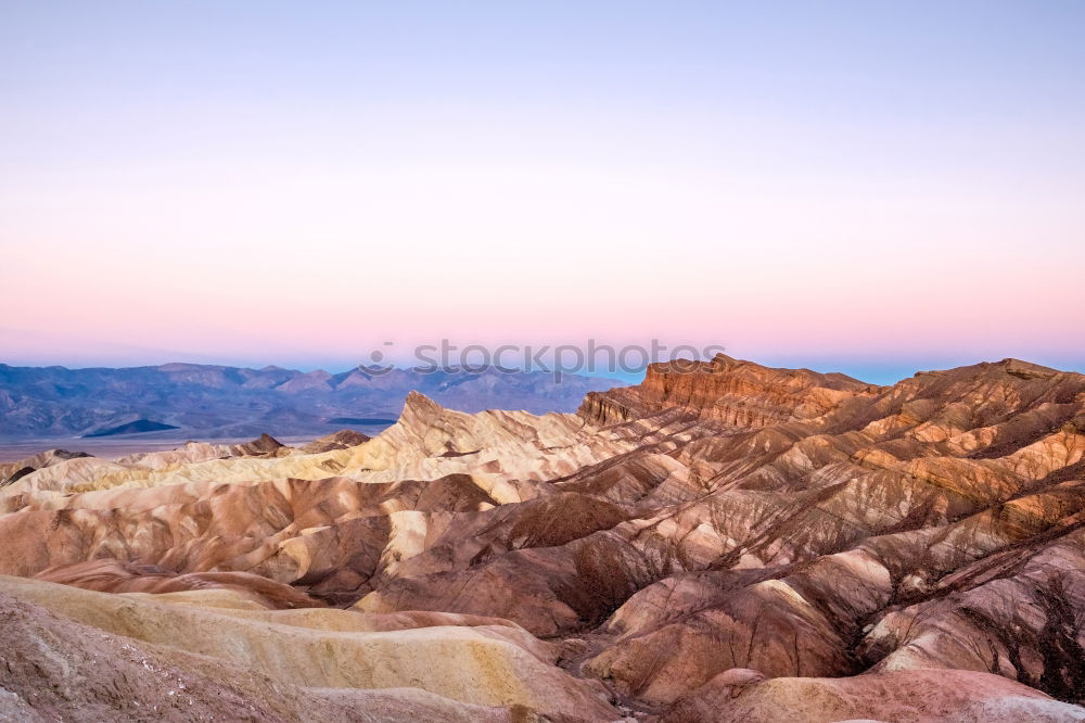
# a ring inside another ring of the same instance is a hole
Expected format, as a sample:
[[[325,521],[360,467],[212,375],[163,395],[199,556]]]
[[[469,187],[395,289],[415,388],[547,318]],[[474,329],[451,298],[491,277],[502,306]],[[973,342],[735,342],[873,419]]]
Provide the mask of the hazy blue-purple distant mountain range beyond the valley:
[[[541,371],[372,376],[280,367],[166,364],[122,369],[0,364],[0,440],[169,434],[200,439],[326,434],[391,424],[419,391],[463,411],[572,411],[590,391],[621,382]]]

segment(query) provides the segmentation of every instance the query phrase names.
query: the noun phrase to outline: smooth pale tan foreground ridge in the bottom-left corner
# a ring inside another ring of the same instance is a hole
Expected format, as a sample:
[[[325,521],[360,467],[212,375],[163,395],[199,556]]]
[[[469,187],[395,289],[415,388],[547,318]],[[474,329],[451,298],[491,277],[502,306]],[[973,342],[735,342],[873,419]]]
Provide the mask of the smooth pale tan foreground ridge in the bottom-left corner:
[[[75,720],[607,720],[601,686],[506,625],[281,616],[0,580],[0,685]],[[71,661],[61,667],[59,660]],[[41,680],[55,680],[52,686]],[[224,699],[225,698],[225,699]],[[370,712],[375,703],[376,715]],[[352,712],[352,708],[357,710]],[[113,711],[107,712],[107,711]],[[383,714],[381,714],[383,713]]]

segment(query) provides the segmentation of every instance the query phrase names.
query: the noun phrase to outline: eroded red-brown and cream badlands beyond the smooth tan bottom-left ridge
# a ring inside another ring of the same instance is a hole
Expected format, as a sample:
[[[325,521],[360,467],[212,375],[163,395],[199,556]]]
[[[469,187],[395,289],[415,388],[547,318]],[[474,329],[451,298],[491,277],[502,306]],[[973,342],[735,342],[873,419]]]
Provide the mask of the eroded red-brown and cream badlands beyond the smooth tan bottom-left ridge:
[[[7,485],[0,573],[500,618],[614,718],[1085,716],[1082,375],[718,356],[577,415],[412,394],[372,440],[195,452]]]

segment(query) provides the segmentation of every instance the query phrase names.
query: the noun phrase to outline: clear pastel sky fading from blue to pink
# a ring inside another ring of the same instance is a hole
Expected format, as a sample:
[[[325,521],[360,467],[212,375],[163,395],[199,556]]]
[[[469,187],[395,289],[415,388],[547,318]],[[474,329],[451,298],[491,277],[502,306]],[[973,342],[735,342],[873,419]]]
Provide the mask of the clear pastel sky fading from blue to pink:
[[[0,362],[1085,370],[1085,3],[0,0]]]

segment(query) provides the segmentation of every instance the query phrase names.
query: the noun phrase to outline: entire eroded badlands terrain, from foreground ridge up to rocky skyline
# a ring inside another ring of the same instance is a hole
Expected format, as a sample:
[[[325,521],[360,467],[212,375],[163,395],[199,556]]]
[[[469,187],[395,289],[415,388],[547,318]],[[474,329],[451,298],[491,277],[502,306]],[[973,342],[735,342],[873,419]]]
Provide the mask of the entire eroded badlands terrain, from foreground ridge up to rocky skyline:
[[[0,485],[0,720],[1085,721],[1085,376],[1013,359]]]

